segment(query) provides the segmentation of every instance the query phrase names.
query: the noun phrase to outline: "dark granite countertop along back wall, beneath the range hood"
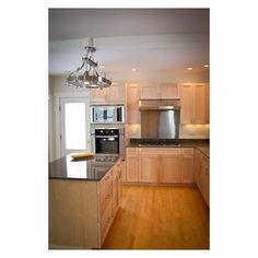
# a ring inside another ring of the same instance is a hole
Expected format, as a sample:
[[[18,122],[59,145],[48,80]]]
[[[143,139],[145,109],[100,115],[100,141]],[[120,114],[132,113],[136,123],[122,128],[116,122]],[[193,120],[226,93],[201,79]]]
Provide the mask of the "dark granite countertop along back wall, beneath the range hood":
[[[209,139],[142,139],[131,138],[127,148],[197,148],[206,156],[210,157]]]

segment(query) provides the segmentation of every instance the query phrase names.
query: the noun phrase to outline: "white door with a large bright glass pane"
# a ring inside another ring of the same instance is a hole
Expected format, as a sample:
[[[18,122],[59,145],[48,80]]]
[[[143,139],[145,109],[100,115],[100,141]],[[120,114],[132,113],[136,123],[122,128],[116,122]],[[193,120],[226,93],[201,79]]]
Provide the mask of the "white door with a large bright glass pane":
[[[60,154],[90,151],[89,97],[59,98]]]

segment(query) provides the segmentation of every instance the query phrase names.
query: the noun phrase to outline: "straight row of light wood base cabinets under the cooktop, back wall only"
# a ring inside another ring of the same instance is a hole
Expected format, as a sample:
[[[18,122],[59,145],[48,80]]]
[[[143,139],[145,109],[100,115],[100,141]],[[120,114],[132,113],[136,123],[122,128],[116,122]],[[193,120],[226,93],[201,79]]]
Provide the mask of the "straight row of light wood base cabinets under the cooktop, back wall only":
[[[127,183],[194,184],[194,149],[127,149],[130,150],[127,152]],[[139,162],[136,162],[136,156]]]

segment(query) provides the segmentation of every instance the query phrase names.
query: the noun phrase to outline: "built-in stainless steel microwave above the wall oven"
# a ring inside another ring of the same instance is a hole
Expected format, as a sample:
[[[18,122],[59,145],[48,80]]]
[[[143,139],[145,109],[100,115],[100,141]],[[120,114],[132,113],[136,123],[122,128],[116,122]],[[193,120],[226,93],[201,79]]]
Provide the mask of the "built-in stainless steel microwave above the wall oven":
[[[124,124],[124,105],[93,105],[91,106],[91,124]]]

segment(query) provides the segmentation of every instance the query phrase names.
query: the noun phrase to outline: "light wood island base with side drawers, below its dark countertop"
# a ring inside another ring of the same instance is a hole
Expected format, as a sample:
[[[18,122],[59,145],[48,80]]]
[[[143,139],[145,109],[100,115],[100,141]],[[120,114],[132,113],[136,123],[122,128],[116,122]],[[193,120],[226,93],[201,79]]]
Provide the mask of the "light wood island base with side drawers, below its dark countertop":
[[[121,200],[121,159],[99,181],[49,180],[49,248],[101,248]]]

